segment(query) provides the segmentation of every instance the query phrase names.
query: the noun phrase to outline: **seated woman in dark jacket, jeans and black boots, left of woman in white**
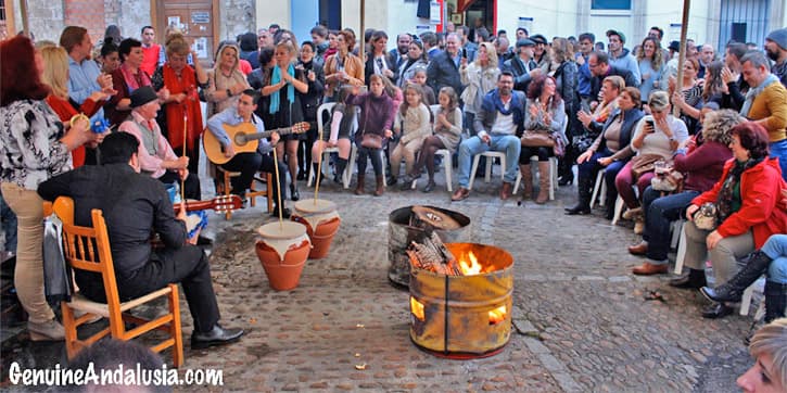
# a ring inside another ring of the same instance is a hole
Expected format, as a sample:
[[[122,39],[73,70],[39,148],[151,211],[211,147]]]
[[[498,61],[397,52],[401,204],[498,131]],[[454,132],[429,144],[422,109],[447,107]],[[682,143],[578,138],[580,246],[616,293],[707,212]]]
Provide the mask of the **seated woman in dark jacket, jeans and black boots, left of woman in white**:
[[[611,219],[617,196],[614,177],[634,155],[631,148],[631,137],[634,134],[634,127],[645,116],[645,113],[639,109],[639,90],[635,87],[626,87],[621,91],[618,98],[618,107],[612,111],[607,122],[604,125],[597,122],[592,122],[588,125],[592,131],[600,131],[601,134],[593,142],[593,145],[576,159],[576,164],[580,166],[580,179],[577,181],[580,201],[574,207],[567,207],[566,214],[591,213],[593,182],[598,170],[604,168],[606,169],[605,181],[607,181],[607,216]]]

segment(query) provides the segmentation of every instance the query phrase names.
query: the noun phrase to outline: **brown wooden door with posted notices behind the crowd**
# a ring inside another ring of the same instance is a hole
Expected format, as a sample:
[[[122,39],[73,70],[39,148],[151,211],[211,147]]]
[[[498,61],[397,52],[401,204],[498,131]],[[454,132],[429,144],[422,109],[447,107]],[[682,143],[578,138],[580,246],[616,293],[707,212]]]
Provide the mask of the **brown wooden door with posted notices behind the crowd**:
[[[217,14],[214,14],[213,0],[163,0],[157,5],[158,31],[164,34],[168,26],[176,26],[183,31],[187,40],[193,43],[200,61],[213,64],[216,39],[214,26]],[[162,40],[164,37],[162,37]]]

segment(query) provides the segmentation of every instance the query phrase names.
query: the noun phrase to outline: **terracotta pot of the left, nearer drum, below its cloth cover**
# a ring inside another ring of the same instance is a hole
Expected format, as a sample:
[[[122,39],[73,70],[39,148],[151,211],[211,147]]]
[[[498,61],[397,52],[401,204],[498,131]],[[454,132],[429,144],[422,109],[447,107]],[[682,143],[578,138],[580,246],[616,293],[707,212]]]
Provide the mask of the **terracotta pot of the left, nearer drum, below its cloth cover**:
[[[289,291],[297,287],[309,252],[308,241],[290,245],[284,254],[284,261],[281,261],[279,254],[263,241],[257,241],[255,251],[268,276],[270,288],[277,291]]]

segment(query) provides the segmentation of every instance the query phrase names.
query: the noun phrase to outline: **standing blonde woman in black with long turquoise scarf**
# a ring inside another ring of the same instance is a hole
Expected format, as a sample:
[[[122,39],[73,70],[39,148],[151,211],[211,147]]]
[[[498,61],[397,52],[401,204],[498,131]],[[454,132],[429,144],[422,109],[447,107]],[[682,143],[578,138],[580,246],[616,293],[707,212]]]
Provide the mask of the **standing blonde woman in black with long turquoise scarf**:
[[[276,65],[266,74],[268,83],[263,87],[263,96],[270,97],[270,105],[267,114],[263,117],[267,129],[290,127],[303,122],[303,110],[301,106],[302,94],[308,92],[308,84],[302,68],[295,68],[293,59],[296,49],[289,41],[282,41],[276,46],[274,59]],[[284,157],[287,148],[287,164],[290,168],[290,178],[297,178],[297,145],[305,134],[290,134],[281,136],[276,145],[276,153]],[[281,176],[284,176],[281,174]],[[290,183],[290,199],[301,199],[297,192],[296,181]]]

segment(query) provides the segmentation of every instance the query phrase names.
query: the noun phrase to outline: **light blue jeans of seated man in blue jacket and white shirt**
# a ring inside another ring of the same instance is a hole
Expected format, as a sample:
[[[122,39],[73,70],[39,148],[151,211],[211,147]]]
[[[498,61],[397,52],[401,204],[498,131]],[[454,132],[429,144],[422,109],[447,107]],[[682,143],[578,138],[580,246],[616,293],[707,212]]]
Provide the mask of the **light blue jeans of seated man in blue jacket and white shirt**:
[[[506,153],[506,172],[503,181],[513,183],[517,179],[519,170],[517,164],[522,150],[519,138],[512,135],[490,135],[490,137],[492,138],[490,144],[482,142],[479,137],[470,137],[459,144],[459,187],[467,188],[470,182],[473,156],[490,150]]]

